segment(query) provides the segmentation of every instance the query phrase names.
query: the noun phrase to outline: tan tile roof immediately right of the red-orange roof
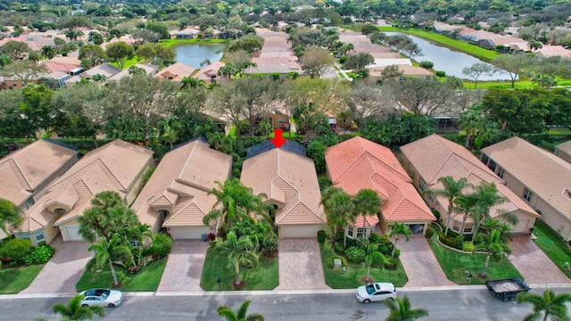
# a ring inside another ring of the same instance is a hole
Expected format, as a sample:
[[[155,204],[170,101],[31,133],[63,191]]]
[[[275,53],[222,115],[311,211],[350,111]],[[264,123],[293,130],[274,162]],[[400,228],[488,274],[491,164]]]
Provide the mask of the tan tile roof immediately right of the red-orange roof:
[[[491,169],[488,169],[482,161],[460,144],[441,136],[431,135],[401,146],[401,152],[418,170],[420,177],[430,189],[443,188],[443,185],[438,182],[440,177],[454,177],[455,180],[467,177],[473,185],[480,185],[483,181],[494,183],[498,192],[507,197],[509,201],[493,207],[490,210],[492,217],[512,210],[522,210],[532,216],[538,216],[526,202],[504,185],[500,177],[497,177]],[[448,200],[438,197],[438,202],[444,209],[448,209]]]

